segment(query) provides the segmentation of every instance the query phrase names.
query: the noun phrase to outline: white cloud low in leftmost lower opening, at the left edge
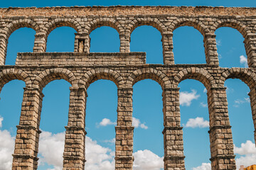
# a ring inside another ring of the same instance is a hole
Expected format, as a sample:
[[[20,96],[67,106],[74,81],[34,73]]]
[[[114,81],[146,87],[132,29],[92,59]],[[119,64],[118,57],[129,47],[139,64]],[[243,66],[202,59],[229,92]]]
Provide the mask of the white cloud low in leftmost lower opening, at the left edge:
[[[0,165],[1,170],[11,169],[14,153],[14,137],[7,130],[0,130]]]

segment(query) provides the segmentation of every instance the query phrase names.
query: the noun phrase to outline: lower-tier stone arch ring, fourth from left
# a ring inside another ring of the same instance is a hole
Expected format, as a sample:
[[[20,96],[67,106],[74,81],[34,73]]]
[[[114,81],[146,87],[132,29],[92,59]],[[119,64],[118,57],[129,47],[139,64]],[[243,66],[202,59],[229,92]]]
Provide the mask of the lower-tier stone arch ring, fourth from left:
[[[138,81],[143,79],[152,79],[158,82],[163,90],[171,88],[171,81],[169,80],[169,77],[160,70],[153,68],[137,69],[132,72],[127,79],[127,86],[132,87]]]

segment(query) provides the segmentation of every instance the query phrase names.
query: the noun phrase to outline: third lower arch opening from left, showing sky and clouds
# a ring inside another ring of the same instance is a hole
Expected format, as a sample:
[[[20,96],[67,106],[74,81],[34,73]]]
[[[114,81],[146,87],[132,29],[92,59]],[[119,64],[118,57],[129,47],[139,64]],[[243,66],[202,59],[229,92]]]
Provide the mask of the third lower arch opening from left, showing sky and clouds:
[[[117,86],[99,79],[87,89],[85,169],[114,169]]]

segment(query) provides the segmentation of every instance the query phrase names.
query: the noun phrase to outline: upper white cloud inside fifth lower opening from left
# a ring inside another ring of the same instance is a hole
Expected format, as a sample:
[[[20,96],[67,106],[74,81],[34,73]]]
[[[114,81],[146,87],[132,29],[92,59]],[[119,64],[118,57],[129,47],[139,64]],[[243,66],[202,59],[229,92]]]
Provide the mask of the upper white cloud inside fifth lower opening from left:
[[[181,91],[180,94],[180,103],[181,106],[191,106],[191,101],[194,99],[198,99],[200,97],[199,94],[196,94],[196,91],[192,89],[192,92]]]

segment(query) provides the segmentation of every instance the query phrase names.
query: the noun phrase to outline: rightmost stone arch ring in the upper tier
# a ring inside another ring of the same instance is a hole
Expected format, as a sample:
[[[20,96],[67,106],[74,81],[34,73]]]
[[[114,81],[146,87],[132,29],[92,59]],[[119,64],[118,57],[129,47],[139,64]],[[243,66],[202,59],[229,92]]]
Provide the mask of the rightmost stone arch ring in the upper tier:
[[[213,24],[213,26],[210,27],[211,30],[213,30],[213,32],[215,32],[215,30],[217,30],[220,27],[230,27],[230,28],[234,28],[236,30],[238,30],[242,36],[245,38],[246,35],[248,33],[251,33],[250,28],[245,26],[244,23],[235,20],[235,19],[220,19],[218,21],[215,21],[215,23]]]

